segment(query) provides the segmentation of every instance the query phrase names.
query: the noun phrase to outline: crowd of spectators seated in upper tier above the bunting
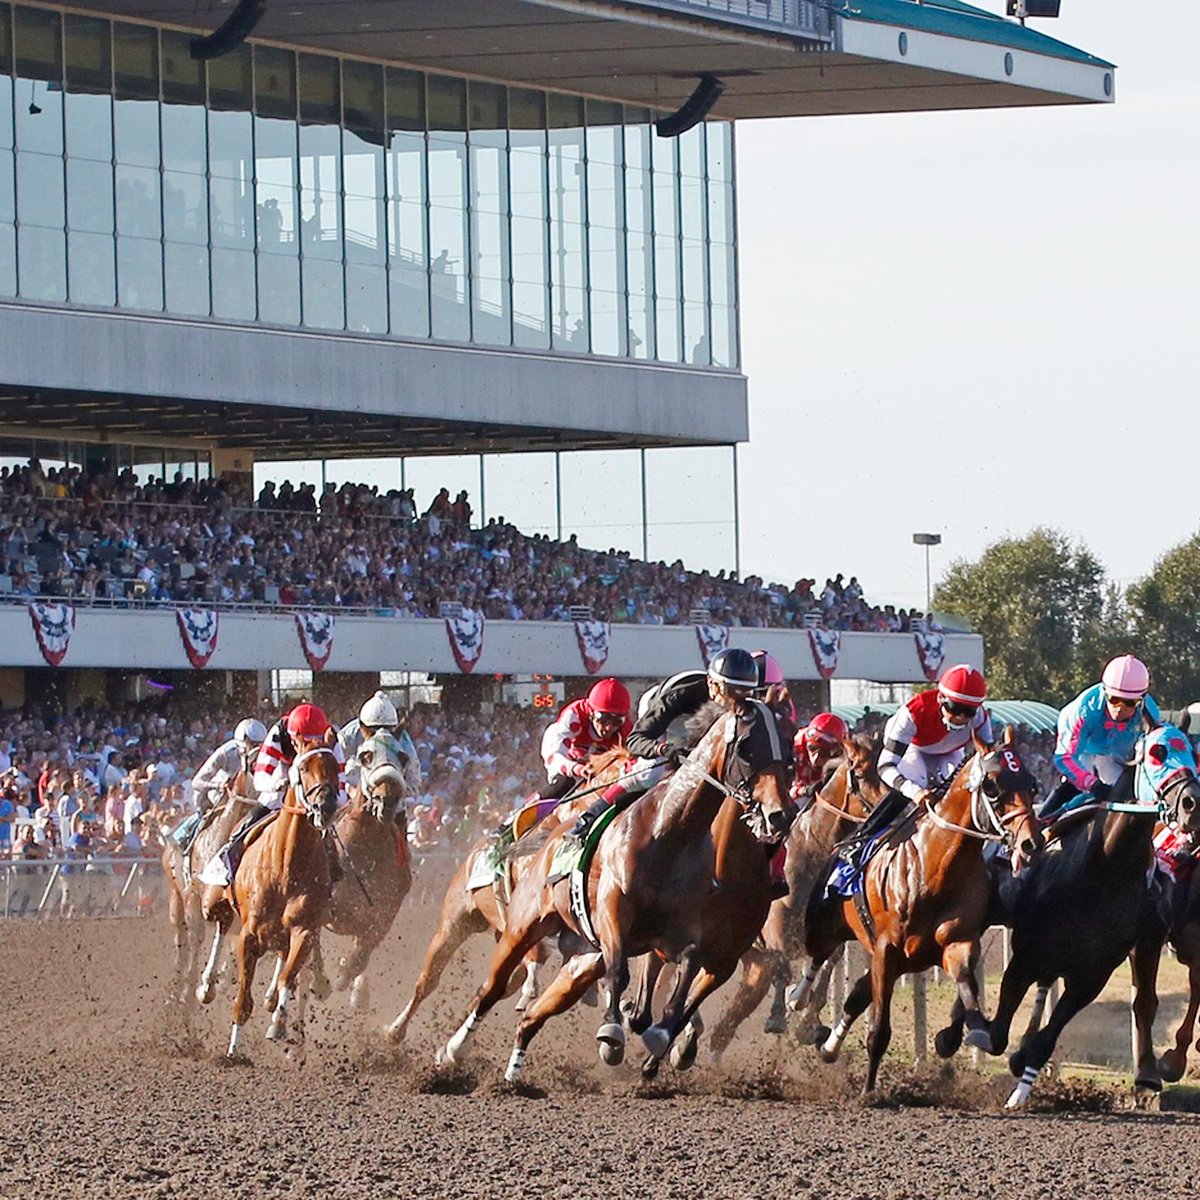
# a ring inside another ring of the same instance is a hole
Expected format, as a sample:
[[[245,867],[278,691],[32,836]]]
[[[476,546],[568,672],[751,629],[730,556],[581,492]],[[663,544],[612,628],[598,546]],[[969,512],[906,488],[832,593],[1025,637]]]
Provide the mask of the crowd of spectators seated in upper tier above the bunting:
[[[690,571],[572,535],[528,535],[504,517],[472,526],[466,492],[419,510],[413,488],[265,485],[229,479],[139,482],[131,470],[0,468],[0,596],[78,602],[353,607],[490,619],[590,614],[634,624],[818,625],[901,632],[920,617],[871,605],[857,577],[817,588]]]

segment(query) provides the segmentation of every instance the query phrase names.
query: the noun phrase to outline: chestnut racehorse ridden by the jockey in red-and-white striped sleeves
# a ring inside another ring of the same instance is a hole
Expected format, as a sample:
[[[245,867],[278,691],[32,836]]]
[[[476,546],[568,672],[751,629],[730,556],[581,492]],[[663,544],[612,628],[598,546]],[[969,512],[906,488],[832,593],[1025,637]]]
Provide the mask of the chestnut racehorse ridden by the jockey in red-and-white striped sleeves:
[[[254,1007],[251,989],[258,960],[272,950],[284,956],[266,1037],[287,1036],[288,1004],[329,907],[329,854],[324,834],[337,808],[338,764],[330,744],[299,755],[288,772],[278,815],[246,846],[233,883],[208,888],[204,916],[215,920],[214,962],[234,916],[238,935],[238,994],[233,1004],[228,1057]],[[270,1006],[269,1006],[270,1008]]]

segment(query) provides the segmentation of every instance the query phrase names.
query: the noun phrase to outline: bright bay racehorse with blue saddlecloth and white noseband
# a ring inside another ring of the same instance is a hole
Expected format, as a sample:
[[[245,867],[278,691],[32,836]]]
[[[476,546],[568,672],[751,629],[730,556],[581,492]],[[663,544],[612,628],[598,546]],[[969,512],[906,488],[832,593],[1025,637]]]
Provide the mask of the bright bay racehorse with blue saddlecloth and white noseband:
[[[804,974],[802,998],[805,984],[811,988],[817,968],[848,934],[871,956],[870,970],[846,997],[841,1019],[817,1037],[821,1057],[833,1062],[851,1025],[870,1006],[864,1093],[875,1090],[892,1039],[892,994],[904,974],[940,965],[958,985],[955,1009],[961,1006],[967,1044],[990,1049],[974,974],[988,914],[983,846],[1009,844],[1019,870],[1042,845],[1033,815],[1037,784],[1012,744],[1012,726],[1000,748],[976,736],[976,754],[944,791],[883,839],[863,872],[859,895],[829,901],[815,892],[810,900],[805,946],[812,965]],[[948,1057],[958,1044],[944,1037],[937,1049]]]

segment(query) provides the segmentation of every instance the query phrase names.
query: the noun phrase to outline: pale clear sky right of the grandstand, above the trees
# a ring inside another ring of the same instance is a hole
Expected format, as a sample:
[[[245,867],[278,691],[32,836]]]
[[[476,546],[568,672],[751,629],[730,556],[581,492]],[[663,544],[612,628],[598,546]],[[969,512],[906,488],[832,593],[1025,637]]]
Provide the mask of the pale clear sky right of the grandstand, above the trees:
[[[738,125],[744,570],[907,605],[914,530],[1122,583],[1195,532],[1200,2],[1062,13],[1116,104]]]

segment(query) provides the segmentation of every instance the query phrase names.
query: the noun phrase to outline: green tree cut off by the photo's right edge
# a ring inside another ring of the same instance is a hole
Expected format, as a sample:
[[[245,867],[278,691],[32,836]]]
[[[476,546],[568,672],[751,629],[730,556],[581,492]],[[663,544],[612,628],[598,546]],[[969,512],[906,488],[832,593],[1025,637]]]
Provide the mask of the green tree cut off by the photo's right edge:
[[[1200,534],[1163,554],[1130,586],[1128,602],[1133,644],[1154,696],[1170,708],[1200,697]]]

